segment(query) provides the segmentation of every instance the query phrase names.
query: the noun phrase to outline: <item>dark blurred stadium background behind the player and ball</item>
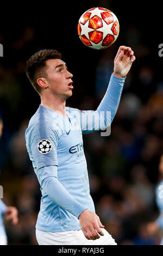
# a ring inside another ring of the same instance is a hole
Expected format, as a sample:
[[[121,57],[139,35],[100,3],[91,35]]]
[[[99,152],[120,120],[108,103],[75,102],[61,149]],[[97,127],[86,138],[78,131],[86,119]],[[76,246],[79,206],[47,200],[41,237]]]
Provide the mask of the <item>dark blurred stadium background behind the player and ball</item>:
[[[77,34],[79,17],[92,7],[112,10],[120,22],[115,44],[102,51],[86,47]],[[159,244],[161,232],[153,237],[147,231],[147,223],[158,216],[154,190],[160,179],[158,163],[163,149],[159,3],[99,0],[40,3],[35,8],[24,4],[5,10],[0,28],[4,47],[0,59],[0,114],[4,121],[0,184],[4,202],[18,208],[20,219],[15,227],[5,222],[9,245],[37,244],[40,187],[27,155],[24,131],[40,98],[24,74],[26,60],[43,48],[60,51],[73,74],[73,96],[67,106],[96,109],[120,45],[130,46],[136,60],[126,78],[111,135],[83,136],[91,195],[102,223],[119,244]]]

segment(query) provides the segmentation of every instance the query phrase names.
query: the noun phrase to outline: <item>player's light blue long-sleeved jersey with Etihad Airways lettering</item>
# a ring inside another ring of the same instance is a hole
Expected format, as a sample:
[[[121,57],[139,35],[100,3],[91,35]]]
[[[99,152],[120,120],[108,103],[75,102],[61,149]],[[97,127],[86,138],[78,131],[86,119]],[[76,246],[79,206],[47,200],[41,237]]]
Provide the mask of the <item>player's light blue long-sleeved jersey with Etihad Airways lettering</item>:
[[[42,192],[36,228],[60,232],[81,229],[78,216],[95,212],[90,196],[82,133],[110,126],[120,102],[124,78],[111,76],[96,111],[66,107],[68,118],[39,106],[26,130],[27,151]]]

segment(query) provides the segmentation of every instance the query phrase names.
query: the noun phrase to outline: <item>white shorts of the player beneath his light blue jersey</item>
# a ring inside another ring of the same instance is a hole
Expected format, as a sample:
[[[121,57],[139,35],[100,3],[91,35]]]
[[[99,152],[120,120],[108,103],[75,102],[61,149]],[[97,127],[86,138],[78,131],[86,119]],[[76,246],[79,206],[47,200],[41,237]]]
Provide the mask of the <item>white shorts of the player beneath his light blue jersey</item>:
[[[36,239],[39,245],[117,245],[108,231],[102,231],[99,239],[87,240],[82,229],[55,233],[36,229]]]

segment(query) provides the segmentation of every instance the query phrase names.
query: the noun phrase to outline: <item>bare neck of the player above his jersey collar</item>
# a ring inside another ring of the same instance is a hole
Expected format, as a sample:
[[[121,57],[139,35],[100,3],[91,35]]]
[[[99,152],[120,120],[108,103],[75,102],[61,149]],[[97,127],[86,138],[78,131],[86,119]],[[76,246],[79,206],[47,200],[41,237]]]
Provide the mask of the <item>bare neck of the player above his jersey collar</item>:
[[[54,112],[57,112],[60,115],[63,115],[64,117],[67,117],[66,100],[64,99],[60,99],[55,95],[41,95],[41,105],[51,109]]]

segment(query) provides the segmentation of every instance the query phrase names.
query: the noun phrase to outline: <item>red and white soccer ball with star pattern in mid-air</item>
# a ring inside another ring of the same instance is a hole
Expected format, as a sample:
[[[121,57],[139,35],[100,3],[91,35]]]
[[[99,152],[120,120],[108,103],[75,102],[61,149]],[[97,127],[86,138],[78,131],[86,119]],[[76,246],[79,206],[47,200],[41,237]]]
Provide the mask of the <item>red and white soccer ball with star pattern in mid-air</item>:
[[[78,22],[78,35],[83,44],[97,50],[112,45],[119,31],[120,25],[115,14],[101,7],[85,11]]]

